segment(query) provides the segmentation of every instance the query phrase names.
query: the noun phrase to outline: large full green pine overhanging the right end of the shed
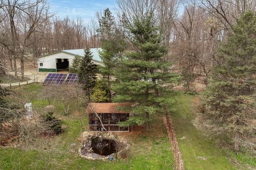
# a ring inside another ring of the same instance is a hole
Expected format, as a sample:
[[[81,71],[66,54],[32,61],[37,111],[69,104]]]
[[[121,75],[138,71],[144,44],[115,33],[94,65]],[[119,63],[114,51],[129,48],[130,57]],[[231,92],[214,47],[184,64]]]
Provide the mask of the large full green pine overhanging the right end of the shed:
[[[167,50],[162,45],[163,38],[153,14],[134,19],[127,29],[130,31],[127,38],[136,50],[123,57],[121,68],[115,72],[119,82],[114,86],[117,94],[114,100],[133,104],[131,116],[123,125],[145,124],[148,131],[155,116],[170,111],[174,103],[170,97],[171,84],[177,75],[169,72],[171,63],[163,59]]]

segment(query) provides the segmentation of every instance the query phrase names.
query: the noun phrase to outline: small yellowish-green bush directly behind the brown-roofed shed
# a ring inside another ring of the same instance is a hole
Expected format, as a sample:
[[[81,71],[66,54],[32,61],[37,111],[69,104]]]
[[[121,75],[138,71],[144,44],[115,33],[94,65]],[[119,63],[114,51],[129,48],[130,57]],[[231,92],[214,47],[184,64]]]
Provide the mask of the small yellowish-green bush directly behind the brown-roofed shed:
[[[96,82],[96,86],[93,89],[92,99],[97,103],[108,102],[108,87],[107,84],[101,80]]]

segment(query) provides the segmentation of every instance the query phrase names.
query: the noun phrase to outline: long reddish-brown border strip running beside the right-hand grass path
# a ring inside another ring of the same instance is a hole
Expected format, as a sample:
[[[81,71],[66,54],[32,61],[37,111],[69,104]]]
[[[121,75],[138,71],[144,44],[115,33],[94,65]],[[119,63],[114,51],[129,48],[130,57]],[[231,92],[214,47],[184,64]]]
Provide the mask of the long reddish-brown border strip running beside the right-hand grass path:
[[[174,160],[175,160],[175,169],[176,170],[184,170],[184,164],[183,164],[180,149],[178,147],[178,141],[177,141],[177,138],[176,138],[176,134],[175,134],[175,131],[174,131],[174,126],[173,126],[172,120],[171,120],[171,118],[169,118],[166,115],[166,116],[163,116],[163,121],[164,121],[164,124],[166,126],[166,131],[167,131],[169,140],[170,140],[171,145],[172,145],[173,157],[174,157]]]

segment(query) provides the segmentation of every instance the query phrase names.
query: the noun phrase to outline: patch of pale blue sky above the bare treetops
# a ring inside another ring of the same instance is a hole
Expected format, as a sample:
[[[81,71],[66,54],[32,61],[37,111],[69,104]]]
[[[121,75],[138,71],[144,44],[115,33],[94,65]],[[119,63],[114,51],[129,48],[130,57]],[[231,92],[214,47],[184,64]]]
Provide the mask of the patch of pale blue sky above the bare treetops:
[[[112,13],[117,8],[116,0],[49,0],[51,12],[60,18],[83,18],[86,22],[94,18],[95,12],[107,7]]]

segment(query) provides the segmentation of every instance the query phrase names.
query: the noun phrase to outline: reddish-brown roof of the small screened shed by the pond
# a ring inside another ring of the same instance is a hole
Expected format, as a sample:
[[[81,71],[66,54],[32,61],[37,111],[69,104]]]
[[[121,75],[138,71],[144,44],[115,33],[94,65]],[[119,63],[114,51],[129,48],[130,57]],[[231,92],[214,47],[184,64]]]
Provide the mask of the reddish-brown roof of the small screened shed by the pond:
[[[87,113],[129,113],[127,111],[119,111],[117,107],[131,106],[131,103],[90,103],[87,108]],[[93,111],[93,109],[94,111]]]

